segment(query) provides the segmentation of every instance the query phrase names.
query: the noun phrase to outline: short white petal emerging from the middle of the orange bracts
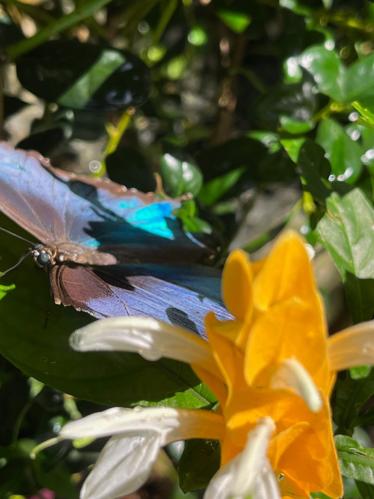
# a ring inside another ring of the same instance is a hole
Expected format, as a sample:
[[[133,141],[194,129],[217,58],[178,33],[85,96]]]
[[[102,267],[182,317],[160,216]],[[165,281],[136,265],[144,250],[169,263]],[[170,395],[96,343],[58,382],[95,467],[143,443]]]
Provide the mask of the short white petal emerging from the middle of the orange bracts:
[[[323,401],[305,367],[296,359],[285,359],[270,381],[270,388],[289,389],[305,400],[309,409],[319,412]]]

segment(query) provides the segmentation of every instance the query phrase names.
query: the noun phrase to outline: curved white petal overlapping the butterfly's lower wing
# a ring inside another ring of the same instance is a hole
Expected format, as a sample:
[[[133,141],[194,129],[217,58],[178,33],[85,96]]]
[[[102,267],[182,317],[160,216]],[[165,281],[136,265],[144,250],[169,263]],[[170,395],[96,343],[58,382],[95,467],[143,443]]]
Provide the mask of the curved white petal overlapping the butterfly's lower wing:
[[[75,331],[70,336],[70,346],[80,352],[137,352],[147,360],[168,357],[217,372],[206,341],[181,327],[150,317],[111,317],[97,320]]]

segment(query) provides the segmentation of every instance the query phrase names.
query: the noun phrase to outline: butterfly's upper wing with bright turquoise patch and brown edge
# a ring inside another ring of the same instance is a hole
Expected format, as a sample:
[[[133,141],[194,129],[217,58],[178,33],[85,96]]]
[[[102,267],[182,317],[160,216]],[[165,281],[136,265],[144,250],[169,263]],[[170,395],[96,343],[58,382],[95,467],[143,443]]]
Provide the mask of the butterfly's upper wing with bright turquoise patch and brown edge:
[[[209,250],[181,229],[172,213],[180,206],[0,143],[0,209],[46,245],[70,241],[125,261],[196,261]]]

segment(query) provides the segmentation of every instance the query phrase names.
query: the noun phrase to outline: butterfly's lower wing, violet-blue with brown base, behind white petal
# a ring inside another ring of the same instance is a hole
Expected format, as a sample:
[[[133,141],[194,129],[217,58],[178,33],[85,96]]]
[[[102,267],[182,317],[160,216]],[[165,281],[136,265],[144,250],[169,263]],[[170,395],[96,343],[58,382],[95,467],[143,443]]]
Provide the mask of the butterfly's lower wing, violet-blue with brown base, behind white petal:
[[[55,265],[52,287],[65,305],[94,317],[154,317],[204,337],[204,317],[213,311],[232,319],[220,296],[220,273],[191,265],[121,264],[100,267]]]

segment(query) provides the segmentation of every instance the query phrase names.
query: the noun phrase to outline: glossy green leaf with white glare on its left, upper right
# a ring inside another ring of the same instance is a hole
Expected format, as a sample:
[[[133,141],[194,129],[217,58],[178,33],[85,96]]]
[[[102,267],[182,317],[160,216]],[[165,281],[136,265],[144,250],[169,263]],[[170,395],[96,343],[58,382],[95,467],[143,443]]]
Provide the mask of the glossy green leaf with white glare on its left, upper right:
[[[335,50],[314,45],[301,54],[300,64],[313,75],[321,93],[339,102],[344,100],[346,68]]]

